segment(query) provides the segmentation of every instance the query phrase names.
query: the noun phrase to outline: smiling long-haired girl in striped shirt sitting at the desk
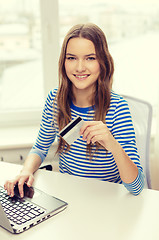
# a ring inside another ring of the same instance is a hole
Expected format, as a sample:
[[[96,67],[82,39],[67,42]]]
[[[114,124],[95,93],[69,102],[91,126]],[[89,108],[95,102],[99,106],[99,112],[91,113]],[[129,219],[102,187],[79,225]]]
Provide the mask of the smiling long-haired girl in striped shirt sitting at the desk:
[[[59,59],[59,88],[48,95],[41,127],[20,175],[7,181],[13,195],[16,182],[33,183],[38,169],[58,136],[62,173],[123,183],[134,195],[144,185],[135,133],[127,102],[111,90],[114,72],[102,30],[94,24],[76,25],[66,35]],[[71,146],[59,131],[75,117],[85,121]]]

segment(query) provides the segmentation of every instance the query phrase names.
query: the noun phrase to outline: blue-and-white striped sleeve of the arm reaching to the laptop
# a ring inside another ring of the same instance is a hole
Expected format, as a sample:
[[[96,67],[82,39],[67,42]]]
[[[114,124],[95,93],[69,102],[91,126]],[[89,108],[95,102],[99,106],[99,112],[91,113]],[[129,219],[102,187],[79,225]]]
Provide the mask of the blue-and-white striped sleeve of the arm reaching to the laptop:
[[[30,154],[35,153],[40,156],[43,162],[47,156],[51,144],[56,137],[56,130],[53,122],[53,92],[50,92],[43,109],[39,133]]]

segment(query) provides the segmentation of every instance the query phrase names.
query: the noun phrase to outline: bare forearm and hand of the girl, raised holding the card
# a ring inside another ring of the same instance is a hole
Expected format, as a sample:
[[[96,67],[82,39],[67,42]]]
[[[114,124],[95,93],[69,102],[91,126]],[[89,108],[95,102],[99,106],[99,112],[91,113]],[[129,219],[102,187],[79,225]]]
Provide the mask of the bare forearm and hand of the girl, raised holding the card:
[[[86,122],[81,128],[81,134],[87,144],[98,142],[113,154],[123,182],[132,183],[137,178],[138,168],[136,164],[113,137],[106,124],[101,121]]]

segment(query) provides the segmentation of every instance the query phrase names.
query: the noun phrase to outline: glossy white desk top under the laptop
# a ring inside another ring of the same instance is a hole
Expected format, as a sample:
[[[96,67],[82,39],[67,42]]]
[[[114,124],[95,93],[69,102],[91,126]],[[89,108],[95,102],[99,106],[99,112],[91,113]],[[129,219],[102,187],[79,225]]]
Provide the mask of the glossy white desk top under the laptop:
[[[0,163],[0,183],[20,168]],[[159,239],[159,191],[133,196],[122,185],[45,170],[35,174],[34,186],[67,201],[67,209],[18,235],[0,228],[0,239]]]

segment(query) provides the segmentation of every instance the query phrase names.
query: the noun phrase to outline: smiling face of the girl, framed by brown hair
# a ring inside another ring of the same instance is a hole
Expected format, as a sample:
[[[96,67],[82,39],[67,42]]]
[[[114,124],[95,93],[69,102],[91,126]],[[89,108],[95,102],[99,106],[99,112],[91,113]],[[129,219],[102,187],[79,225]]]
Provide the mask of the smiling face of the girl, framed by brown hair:
[[[66,49],[65,70],[72,82],[73,92],[84,94],[94,90],[100,74],[95,47],[92,41],[85,38],[72,38]]]

